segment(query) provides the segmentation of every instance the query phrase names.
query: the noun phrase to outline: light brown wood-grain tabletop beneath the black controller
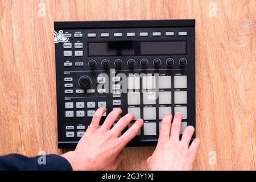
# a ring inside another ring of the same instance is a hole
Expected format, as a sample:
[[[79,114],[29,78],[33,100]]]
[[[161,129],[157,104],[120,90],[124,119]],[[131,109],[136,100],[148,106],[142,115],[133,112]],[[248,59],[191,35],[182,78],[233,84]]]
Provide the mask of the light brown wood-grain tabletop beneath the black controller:
[[[57,149],[55,20],[195,18],[195,169],[255,170],[254,0],[1,1],[0,17],[1,155],[64,152]],[[146,169],[153,151],[125,148],[118,169]]]

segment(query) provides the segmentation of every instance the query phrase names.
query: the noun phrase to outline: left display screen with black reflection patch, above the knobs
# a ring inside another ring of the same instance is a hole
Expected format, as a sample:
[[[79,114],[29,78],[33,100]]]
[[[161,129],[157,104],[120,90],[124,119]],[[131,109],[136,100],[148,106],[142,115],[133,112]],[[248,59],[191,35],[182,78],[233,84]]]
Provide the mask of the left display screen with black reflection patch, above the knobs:
[[[90,42],[88,49],[89,56],[134,55],[135,52],[133,41]]]

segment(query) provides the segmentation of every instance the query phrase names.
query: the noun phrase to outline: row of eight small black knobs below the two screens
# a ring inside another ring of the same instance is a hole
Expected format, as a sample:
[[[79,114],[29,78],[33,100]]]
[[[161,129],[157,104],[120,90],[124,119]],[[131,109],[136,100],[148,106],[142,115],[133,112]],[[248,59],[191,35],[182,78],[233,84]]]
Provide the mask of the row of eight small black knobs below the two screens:
[[[96,67],[96,61],[95,60],[90,60],[88,64],[89,64],[90,68],[95,68]],[[123,62],[122,62],[121,59],[117,59],[117,60],[114,61],[114,65],[117,68],[122,67],[122,64],[123,64]],[[140,61],[140,64],[141,64],[142,67],[147,67],[148,60],[147,59],[142,59]],[[160,65],[162,64],[162,61],[160,59],[156,58],[156,59],[154,59],[153,64],[154,64],[155,67],[160,67]],[[181,58],[179,60],[179,65],[181,65],[182,67],[184,67],[186,64],[187,64],[187,60],[185,58]],[[109,60],[107,60],[107,59],[102,60],[101,65],[104,68],[108,68],[109,67]],[[127,61],[127,65],[128,65],[128,67],[133,68],[135,66],[135,60],[134,59],[129,59]],[[166,60],[166,65],[168,67],[171,67],[172,65],[174,65],[174,59],[168,58]]]

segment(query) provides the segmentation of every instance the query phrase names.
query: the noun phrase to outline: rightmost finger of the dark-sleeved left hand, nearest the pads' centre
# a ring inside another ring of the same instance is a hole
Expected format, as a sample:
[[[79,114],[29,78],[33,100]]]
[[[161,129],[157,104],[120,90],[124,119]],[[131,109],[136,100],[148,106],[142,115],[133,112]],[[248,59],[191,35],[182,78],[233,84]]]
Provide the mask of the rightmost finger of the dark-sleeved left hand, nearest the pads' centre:
[[[119,137],[119,140],[121,141],[121,146],[125,147],[128,142],[130,142],[131,139],[133,139],[138,131],[141,129],[143,125],[143,119],[138,119],[135,121],[133,126],[131,126],[125,133]]]

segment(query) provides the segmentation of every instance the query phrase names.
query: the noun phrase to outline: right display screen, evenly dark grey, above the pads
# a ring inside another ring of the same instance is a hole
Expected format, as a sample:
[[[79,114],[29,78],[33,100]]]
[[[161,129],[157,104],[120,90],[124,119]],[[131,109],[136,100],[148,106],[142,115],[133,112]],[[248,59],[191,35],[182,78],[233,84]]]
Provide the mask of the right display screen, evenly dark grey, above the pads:
[[[187,42],[141,42],[141,55],[177,55],[187,53]]]

